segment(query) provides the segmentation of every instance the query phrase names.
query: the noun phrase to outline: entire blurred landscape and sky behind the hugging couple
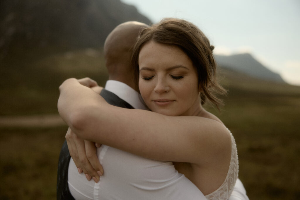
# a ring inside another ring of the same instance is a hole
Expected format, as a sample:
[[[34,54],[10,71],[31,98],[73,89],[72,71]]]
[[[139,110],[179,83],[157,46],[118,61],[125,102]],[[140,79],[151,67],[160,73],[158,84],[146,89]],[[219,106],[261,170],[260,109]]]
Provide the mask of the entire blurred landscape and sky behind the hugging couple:
[[[209,3],[208,3],[209,2]],[[0,1],[0,199],[56,199],[67,126],[58,86],[104,86],[106,36],[122,22],[187,19],[208,35],[228,89],[217,115],[235,137],[250,199],[300,199],[299,1]]]

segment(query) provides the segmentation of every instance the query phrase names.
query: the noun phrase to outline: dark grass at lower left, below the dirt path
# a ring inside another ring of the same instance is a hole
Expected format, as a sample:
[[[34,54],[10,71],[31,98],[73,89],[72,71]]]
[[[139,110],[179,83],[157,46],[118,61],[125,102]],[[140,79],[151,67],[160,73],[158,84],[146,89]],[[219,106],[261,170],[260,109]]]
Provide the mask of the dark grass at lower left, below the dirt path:
[[[0,129],[0,199],[56,199],[58,155],[66,130]]]

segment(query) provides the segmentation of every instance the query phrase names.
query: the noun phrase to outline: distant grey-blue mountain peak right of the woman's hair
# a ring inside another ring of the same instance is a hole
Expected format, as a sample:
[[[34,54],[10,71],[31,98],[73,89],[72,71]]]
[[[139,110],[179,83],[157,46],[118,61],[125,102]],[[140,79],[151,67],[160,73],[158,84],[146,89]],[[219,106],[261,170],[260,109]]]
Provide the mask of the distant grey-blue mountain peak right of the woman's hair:
[[[285,83],[278,73],[274,73],[255,60],[249,53],[237,55],[214,55],[220,67],[236,70],[259,79]]]

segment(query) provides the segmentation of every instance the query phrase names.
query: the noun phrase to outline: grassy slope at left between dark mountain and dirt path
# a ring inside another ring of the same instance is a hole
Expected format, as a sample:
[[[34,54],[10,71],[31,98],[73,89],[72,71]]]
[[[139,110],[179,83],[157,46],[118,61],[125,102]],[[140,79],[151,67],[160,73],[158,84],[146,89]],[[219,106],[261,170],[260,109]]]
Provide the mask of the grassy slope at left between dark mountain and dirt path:
[[[101,49],[26,55],[0,62],[0,104],[5,105],[0,116],[57,113],[58,87],[65,79],[91,77],[104,85],[108,78]]]

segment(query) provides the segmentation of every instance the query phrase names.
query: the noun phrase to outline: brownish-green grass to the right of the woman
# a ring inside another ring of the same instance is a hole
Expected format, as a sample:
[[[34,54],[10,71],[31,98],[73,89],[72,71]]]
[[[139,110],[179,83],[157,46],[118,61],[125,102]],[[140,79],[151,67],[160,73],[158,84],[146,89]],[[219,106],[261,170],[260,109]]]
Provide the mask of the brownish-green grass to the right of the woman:
[[[300,87],[255,81],[232,78],[223,111],[211,111],[235,137],[250,199],[300,199]]]

